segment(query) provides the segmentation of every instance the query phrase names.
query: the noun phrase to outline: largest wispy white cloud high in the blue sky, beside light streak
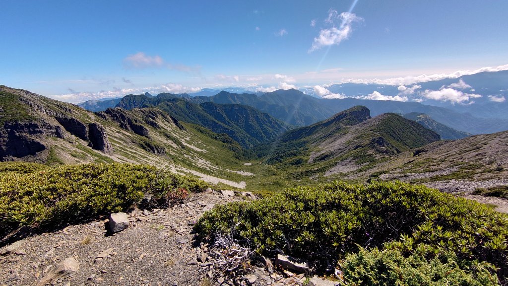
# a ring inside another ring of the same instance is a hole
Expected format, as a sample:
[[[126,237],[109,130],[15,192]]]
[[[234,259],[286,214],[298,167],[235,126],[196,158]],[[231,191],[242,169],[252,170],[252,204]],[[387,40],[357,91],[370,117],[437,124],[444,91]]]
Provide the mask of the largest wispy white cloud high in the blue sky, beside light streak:
[[[340,20],[340,25],[337,28],[333,25],[330,28],[322,29],[319,36],[314,38],[314,42],[309,49],[309,52],[321,49],[324,46],[338,45],[343,40],[347,39],[353,31],[353,22],[362,21],[363,18],[358,17],[354,13],[342,12],[337,15],[337,11],[330,10],[328,18],[325,22],[333,24],[336,20]]]

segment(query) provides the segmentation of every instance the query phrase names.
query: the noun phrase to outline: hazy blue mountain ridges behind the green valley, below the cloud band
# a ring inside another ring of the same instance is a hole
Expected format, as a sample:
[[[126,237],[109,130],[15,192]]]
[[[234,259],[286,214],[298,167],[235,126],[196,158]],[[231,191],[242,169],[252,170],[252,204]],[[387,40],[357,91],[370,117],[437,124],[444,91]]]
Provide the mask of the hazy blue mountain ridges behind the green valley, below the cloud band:
[[[261,96],[256,94],[236,94],[222,91],[214,96],[195,96],[187,94],[163,96],[128,95],[114,106],[125,109],[140,108],[145,104],[156,105],[164,101],[180,98],[193,103],[214,102],[218,104],[242,104],[266,112],[274,118],[290,125],[307,126],[325,120],[337,112],[357,105],[369,108],[372,116],[386,112],[406,114],[411,112],[425,113],[433,120],[458,131],[470,134],[485,134],[508,130],[508,120],[492,118],[488,116],[475,117],[470,113],[460,113],[452,109],[425,105],[418,102],[400,102],[389,100],[368,99],[325,99],[306,95],[298,90],[278,90],[265,93]],[[111,106],[113,106],[113,101]],[[85,102],[80,106],[88,107]],[[106,106],[103,106],[105,109]],[[92,111],[99,109],[93,108]]]

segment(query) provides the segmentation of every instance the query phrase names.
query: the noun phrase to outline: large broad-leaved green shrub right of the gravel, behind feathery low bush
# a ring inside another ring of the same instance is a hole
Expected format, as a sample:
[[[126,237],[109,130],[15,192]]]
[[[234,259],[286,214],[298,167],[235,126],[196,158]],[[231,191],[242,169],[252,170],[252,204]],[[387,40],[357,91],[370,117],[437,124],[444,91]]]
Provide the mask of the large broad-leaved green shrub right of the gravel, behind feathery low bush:
[[[316,265],[333,265],[361,248],[397,249],[407,257],[429,245],[426,253],[454,251],[459,260],[492,263],[508,276],[506,215],[401,182],[288,189],[252,203],[216,206],[195,230],[212,240],[232,233],[258,252],[282,251]]]

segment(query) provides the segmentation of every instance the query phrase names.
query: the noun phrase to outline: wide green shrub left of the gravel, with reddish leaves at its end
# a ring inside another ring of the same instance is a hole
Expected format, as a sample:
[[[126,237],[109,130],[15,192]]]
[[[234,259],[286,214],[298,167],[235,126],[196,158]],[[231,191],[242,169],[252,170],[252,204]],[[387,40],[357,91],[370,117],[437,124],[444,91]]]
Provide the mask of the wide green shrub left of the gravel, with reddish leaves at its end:
[[[195,192],[206,186],[147,165],[82,164],[27,174],[11,171],[0,176],[0,229],[82,221],[126,211],[145,193],[165,197],[167,203],[183,198],[168,193]]]

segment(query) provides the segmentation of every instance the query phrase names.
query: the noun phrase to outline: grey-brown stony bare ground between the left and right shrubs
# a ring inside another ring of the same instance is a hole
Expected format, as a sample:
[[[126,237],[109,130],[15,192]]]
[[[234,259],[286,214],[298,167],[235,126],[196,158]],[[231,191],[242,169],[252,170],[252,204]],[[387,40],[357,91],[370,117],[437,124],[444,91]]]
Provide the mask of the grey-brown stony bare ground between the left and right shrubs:
[[[70,258],[79,262],[79,270],[51,284],[303,284],[303,274],[269,273],[262,264],[251,267],[250,275],[228,280],[216,269],[211,253],[214,249],[196,242],[193,224],[205,211],[215,204],[243,199],[251,198],[239,193],[197,193],[184,204],[167,209],[136,209],[129,213],[130,226],[115,234],[109,233],[108,221],[101,220],[24,238],[13,253],[0,256],[0,285],[39,285],[58,264]]]

